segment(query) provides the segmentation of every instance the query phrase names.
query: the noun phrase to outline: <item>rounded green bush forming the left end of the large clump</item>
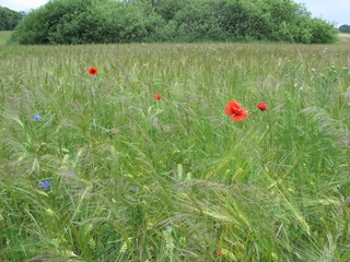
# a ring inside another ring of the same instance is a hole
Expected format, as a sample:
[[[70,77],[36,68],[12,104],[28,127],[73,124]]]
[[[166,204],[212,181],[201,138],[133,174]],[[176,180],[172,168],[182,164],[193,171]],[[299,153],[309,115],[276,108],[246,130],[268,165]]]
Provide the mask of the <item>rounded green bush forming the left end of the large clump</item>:
[[[31,12],[14,31],[20,44],[106,44],[145,35],[142,14],[113,0],[55,0]]]

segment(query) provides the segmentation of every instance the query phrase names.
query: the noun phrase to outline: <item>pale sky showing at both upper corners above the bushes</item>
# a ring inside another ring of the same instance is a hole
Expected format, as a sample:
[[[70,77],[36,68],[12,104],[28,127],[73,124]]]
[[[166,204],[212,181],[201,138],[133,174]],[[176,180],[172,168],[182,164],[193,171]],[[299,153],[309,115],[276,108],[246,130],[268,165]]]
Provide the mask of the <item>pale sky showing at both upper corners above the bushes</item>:
[[[0,0],[0,5],[14,11],[30,11],[46,2],[48,0]],[[350,0],[294,0],[294,2],[305,3],[313,17],[322,17],[338,26],[350,25]]]

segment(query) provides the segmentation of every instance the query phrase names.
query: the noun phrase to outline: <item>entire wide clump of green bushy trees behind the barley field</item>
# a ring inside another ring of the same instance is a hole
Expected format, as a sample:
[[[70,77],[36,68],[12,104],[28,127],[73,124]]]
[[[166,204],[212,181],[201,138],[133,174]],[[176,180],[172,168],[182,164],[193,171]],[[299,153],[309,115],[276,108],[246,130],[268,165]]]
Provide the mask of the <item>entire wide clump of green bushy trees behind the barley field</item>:
[[[292,0],[50,0],[15,28],[20,44],[337,41],[334,24]]]

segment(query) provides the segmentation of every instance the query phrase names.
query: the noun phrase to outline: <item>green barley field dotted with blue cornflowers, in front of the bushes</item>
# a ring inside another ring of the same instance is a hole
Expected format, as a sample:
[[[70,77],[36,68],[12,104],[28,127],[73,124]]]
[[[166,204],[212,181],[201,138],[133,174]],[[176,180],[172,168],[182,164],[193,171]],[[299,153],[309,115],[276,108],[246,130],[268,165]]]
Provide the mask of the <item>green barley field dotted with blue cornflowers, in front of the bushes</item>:
[[[350,261],[349,41],[0,62],[0,261]]]

